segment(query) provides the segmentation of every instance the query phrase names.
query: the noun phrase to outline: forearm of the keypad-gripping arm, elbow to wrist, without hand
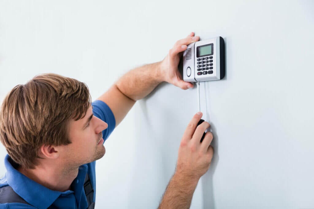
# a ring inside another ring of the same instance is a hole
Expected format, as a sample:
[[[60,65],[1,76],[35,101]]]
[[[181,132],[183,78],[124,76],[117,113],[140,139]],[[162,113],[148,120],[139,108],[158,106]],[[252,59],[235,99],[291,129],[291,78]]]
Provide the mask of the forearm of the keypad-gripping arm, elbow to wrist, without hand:
[[[116,86],[123,94],[136,101],[147,96],[162,81],[160,62],[156,62],[127,72],[116,82]]]

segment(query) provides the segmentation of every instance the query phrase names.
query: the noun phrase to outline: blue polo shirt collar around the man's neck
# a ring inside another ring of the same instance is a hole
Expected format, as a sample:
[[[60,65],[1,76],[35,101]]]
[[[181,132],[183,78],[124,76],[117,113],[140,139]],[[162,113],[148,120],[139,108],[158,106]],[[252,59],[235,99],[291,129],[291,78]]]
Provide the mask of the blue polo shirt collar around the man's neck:
[[[61,194],[70,193],[69,190],[65,192],[50,190],[47,187],[38,184],[37,182],[21,174],[18,170],[14,168],[14,166],[17,164],[12,160],[12,158],[10,158],[8,154],[4,158],[4,165],[7,169],[6,176],[8,180],[8,185],[10,185],[12,189],[25,201],[27,201],[32,206],[35,206],[36,208],[48,208]],[[87,166],[82,165],[79,169],[78,177],[83,178],[84,174],[86,175],[86,173]],[[77,178],[74,181],[76,181]],[[83,189],[82,184],[74,186],[74,192],[76,193],[75,196],[78,200],[80,199],[78,198],[78,196],[81,195],[81,192],[78,192],[77,194],[79,187],[81,187],[81,190]]]

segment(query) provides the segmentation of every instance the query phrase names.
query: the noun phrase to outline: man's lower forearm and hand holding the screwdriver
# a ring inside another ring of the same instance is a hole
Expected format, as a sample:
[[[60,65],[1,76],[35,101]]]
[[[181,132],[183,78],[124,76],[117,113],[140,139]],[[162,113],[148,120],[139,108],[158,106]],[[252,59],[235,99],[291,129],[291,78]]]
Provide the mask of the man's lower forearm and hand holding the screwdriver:
[[[192,196],[198,180],[204,175],[213,158],[213,140],[211,132],[207,132],[202,142],[208,122],[197,126],[202,113],[194,115],[181,139],[176,172],[170,180],[158,209],[190,208]]]

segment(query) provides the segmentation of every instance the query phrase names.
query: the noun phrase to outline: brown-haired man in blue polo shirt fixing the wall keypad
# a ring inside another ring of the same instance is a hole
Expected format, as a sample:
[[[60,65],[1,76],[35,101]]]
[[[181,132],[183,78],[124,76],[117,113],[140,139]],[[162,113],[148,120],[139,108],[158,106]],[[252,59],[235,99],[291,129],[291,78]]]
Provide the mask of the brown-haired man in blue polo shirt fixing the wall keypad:
[[[138,99],[165,81],[182,89],[178,63],[191,33],[178,40],[161,62],[126,73],[91,102],[87,86],[56,74],[35,76],[15,86],[0,110],[0,140],[6,148],[7,172],[0,180],[0,208],[94,208],[95,160],[105,154],[104,141]],[[176,170],[159,208],[189,208],[200,177],[213,156],[213,136],[197,126],[197,113],[181,139]]]

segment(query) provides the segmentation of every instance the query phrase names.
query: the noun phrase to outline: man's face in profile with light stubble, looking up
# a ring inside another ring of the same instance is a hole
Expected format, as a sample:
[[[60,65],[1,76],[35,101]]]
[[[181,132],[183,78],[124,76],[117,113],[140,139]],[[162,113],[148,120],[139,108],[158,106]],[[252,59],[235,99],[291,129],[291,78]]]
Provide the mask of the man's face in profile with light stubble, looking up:
[[[80,166],[104,156],[106,150],[102,131],[107,127],[107,123],[93,116],[92,106],[89,107],[84,118],[78,121],[71,119],[68,131],[72,143],[64,147],[62,154],[68,166]]]

